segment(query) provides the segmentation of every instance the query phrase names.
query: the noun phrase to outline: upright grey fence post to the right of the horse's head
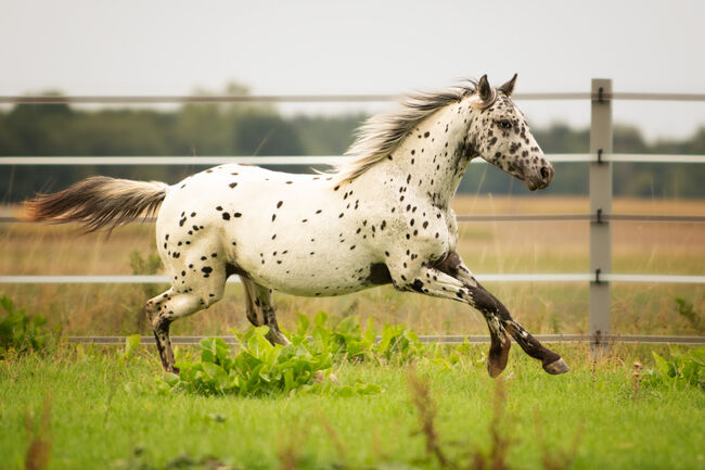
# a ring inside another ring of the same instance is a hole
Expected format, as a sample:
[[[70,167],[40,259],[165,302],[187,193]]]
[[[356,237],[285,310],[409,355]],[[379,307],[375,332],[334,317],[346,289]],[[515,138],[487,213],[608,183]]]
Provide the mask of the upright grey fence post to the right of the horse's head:
[[[590,113],[590,335],[593,346],[604,343],[610,333],[610,282],[601,272],[612,272],[612,229],[605,216],[612,213],[612,164],[602,155],[612,153],[612,80],[592,79]]]

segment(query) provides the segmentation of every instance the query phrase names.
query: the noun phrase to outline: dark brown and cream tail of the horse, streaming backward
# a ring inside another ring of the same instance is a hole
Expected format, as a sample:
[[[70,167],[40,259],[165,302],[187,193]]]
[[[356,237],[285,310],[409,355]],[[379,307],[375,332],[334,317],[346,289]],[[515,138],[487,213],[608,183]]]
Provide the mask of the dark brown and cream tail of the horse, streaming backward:
[[[94,176],[53,194],[37,194],[25,201],[27,221],[66,224],[75,221],[87,232],[128,224],[141,214],[156,213],[168,186],[158,181],[131,181]]]

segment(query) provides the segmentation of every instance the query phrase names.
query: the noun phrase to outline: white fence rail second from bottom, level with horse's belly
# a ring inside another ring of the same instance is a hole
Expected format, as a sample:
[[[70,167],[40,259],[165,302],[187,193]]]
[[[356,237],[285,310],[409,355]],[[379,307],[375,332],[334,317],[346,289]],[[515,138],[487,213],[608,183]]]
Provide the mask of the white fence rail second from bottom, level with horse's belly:
[[[613,272],[555,272],[555,274],[485,274],[473,275],[480,282],[646,282],[705,284],[705,276],[689,275],[633,275]],[[50,275],[0,276],[0,284],[149,284],[169,283],[162,275]],[[239,283],[231,277],[228,283]]]

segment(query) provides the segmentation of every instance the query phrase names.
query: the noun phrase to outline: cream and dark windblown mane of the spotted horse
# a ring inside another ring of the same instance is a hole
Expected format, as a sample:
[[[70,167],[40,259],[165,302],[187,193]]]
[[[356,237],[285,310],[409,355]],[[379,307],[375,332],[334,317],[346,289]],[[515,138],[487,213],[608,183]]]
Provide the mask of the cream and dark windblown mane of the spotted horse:
[[[435,111],[475,93],[476,88],[477,81],[465,80],[440,91],[407,94],[400,100],[399,111],[370,117],[357,129],[355,142],[345,152],[350,161],[335,168],[333,179],[339,183],[362,175],[386,158],[419,123]],[[490,101],[495,101],[495,94]],[[476,105],[485,107],[491,102]]]

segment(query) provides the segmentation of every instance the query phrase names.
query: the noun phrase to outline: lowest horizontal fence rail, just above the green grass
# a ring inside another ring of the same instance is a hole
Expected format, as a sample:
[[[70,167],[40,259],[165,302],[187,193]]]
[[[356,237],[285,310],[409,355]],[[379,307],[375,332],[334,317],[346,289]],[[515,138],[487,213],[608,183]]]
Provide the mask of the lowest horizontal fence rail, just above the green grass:
[[[171,336],[172,344],[180,345],[196,345],[205,338],[214,338],[217,335],[207,336]],[[221,338],[227,344],[240,344],[235,336],[218,336]],[[594,338],[589,334],[536,334],[536,339],[543,343],[592,343]],[[127,336],[68,336],[69,343],[82,344],[125,344]],[[377,341],[380,341],[377,336]],[[426,334],[419,335],[419,341],[422,343],[437,343],[437,344],[483,344],[489,343],[488,335],[461,335],[461,334]],[[662,336],[662,335],[648,335],[648,334],[612,334],[600,338],[601,342],[605,343],[650,343],[650,344],[705,344],[705,336]],[[141,344],[155,344],[154,338],[144,336],[141,339]]]

